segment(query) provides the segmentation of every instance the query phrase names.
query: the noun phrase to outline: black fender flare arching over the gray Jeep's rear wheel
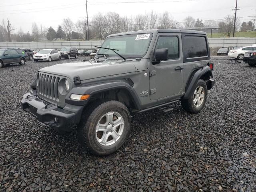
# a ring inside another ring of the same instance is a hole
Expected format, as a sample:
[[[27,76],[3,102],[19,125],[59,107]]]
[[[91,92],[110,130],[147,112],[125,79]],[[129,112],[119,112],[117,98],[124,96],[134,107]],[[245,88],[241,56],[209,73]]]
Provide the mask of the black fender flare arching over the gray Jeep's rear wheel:
[[[202,77],[204,74],[210,73],[210,76],[212,76],[212,70],[209,66],[205,66],[204,68],[201,68],[197,70],[194,75],[190,78],[188,84],[186,85],[185,94],[183,96],[183,99],[188,99],[191,92],[196,88],[196,83]]]

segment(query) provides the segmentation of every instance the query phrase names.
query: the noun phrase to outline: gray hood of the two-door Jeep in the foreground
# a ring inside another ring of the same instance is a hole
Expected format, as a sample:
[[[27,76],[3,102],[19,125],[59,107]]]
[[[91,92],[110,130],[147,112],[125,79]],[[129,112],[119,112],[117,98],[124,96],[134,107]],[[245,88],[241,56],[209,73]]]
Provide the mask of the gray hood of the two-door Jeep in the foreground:
[[[56,64],[39,70],[40,72],[68,77],[72,82],[75,76],[88,80],[104,76],[136,72],[132,61],[70,62]]]

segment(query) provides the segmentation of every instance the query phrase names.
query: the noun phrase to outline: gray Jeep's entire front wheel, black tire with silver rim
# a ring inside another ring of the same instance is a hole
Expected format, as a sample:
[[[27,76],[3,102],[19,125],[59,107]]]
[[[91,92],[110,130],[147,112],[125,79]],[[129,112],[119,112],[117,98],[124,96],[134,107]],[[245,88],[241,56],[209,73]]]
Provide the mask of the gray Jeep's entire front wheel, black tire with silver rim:
[[[82,114],[78,125],[78,139],[88,151],[109,155],[118,150],[130,132],[130,112],[121,102],[92,104]]]

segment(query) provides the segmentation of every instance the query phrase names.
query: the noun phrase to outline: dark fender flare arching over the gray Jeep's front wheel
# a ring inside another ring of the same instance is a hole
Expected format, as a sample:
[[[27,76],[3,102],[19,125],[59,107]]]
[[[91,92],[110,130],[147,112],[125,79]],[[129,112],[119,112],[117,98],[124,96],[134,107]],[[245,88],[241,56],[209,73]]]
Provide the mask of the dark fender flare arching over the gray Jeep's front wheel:
[[[117,88],[124,88],[126,89],[130,95],[132,96],[132,100],[134,102],[134,105],[137,109],[140,109],[141,103],[140,99],[138,98],[134,88],[132,85],[130,85],[128,82],[124,80],[118,80],[118,81],[109,81],[109,82],[101,82],[101,83],[96,83],[96,84],[87,84],[87,85],[80,85],[79,87],[74,87],[72,90],[69,92],[69,94],[66,96],[66,103],[69,104],[74,104],[74,105],[85,105],[88,103],[88,100],[84,101],[74,101],[70,100],[70,95],[71,94],[80,94],[80,95],[85,95],[85,94],[96,94],[99,92],[104,92],[107,90],[114,90]]]

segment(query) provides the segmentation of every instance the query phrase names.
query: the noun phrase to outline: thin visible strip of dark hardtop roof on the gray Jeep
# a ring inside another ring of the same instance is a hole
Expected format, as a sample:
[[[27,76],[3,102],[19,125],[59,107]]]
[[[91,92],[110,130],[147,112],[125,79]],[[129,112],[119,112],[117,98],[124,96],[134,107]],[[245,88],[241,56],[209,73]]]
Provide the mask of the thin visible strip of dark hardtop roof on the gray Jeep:
[[[118,36],[118,35],[128,35],[128,34],[140,34],[140,33],[190,33],[190,34],[202,34],[206,35],[204,31],[195,31],[195,30],[184,30],[184,29],[152,29],[152,30],[139,30],[139,31],[130,31],[118,34],[112,34],[111,36]]]

